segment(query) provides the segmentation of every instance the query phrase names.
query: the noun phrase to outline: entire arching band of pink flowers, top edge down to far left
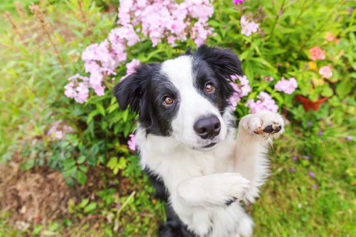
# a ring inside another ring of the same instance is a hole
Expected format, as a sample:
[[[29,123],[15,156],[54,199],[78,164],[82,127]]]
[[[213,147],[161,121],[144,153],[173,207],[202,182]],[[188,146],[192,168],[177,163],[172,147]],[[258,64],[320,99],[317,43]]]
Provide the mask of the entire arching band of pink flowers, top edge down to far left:
[[[207,24],[207,20],[213,13],[210,0],[184,0],[180,4],[169,0],[120,1],[117,23],[121,26],[112,29],[108,39],[84,50],[81,58],[85,73],[90,76],[75,75],[69,78],[65,95],[78,103],[87,101],[90,88],[97,95],[104,95],[104,78],[116,75],[116,68],[127,59],[127,46],[145,40],[140,39],[137,32],[148,37],[153,46],[164,38],[175,46],[177,40],[185,41],[188,37],[200,46],[212,35],[213,28]]]

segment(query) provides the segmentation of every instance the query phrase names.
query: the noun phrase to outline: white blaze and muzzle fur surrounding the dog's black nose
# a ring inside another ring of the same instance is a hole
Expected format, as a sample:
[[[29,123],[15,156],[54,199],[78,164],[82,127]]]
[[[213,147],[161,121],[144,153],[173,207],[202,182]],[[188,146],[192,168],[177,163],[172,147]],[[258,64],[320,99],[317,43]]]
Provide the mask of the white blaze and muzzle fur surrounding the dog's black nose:
[[[171,123],[173,137],[187,147],[201,148],[212,143],[201,139],[194,130],[194,124],[201,116],[215,115],[221,122],[220,134],[214,138],[214,143],[225,139],[227,129],[218,108],[194,88],[193,63],[193,58],[188,55],[170,59],[162,63],[161,73],[179,91],[180,106]]]

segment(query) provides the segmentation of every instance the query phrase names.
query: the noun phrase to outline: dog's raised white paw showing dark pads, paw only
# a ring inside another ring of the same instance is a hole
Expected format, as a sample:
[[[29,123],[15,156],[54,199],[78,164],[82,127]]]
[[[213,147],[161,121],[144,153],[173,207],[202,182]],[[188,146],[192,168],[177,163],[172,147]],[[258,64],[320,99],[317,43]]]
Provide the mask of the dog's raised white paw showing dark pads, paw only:
[[[268,139],[284,131],[284,120],[278,113],[262,110],[243,117],[239,123],[239,128]]]

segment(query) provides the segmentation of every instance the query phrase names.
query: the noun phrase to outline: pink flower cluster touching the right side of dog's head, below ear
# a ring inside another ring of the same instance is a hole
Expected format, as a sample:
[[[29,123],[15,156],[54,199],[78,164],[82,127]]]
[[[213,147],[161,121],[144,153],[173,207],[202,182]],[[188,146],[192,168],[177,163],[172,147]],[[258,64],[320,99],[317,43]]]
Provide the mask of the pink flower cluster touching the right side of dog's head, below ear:
[[[232,80],[230,84],[235,92],[229,98],[229,101],[230,101],[231,108],[235,109],[236,106],[238,106],[238,102],[241,101],[241,97],[244,97],[248,95],[248,93],[250,93],[251,87],[249,85],[249,80],[245,75],[244,76],[231,75],[230,78]],[[237,80],[239,80],[240,83],[238,83]]]

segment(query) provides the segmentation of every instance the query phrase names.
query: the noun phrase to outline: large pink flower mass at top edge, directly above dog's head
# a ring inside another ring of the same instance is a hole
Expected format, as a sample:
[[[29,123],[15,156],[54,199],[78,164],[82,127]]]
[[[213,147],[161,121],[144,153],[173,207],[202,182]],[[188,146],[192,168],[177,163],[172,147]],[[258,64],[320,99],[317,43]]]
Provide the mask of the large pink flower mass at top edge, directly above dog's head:
[[[169,44],[185,41],[188,35],[200,46],[212,34],[206,22],[214,7],[209,0],[123,0],[118,8],[118,24],[135,26],[153,46],[167,38]],[[191,21],[194,20],[193,24]]]

